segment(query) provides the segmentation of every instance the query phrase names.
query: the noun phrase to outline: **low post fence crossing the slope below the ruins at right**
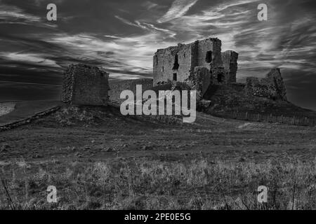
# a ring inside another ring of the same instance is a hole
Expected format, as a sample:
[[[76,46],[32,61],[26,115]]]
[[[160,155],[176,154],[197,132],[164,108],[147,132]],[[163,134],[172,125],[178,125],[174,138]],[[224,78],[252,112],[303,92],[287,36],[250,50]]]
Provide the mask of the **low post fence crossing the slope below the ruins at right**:
[[[281,123],[287,125],[311,126],[315,127],[316,118],[300,117],[300,116],[275,116],[271,114],[249,113],[249,112],[220,112],[211,113],[211,115],[220,118],[230,118],[237,120],[249,120],[265,123]]]

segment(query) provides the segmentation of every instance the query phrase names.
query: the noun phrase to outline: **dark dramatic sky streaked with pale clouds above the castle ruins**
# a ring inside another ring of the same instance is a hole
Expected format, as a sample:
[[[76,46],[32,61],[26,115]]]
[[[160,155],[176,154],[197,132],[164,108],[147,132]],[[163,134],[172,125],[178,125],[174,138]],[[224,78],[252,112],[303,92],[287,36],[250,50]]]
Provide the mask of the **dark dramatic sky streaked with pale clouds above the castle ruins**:
[[[57,21],[46,6],[55,3]],[[257,18],[258,4],[268,20]],[[112,79],[152,77],[159,48],[218,37],[237,81],[279,67],[291,102],[316,110],[316,1],[0,0],[0,101],[58,99],[70,64]]]

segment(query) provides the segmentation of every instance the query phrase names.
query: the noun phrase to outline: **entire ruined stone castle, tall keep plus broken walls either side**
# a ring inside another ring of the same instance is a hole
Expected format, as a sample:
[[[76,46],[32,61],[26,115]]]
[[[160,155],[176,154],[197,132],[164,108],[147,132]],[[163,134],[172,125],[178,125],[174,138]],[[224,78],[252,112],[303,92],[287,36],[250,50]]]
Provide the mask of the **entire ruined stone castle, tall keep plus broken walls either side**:
[[[206,38],[189,44],[159,49],[153,57],[153,80],[108,81],[109,74],[96,66],[70,65],[64,73],[62,102],[70,104],[107,105],[120,102],[123,90],[136,92],[136,85],[145,90],[197,90],[197,101],[213,86],[230,86],[245,96],[287,100],[287,91],[279,69],[272,69],[265,78],[246,78],[236,83],[238,53],[221,52],[218,38]]]

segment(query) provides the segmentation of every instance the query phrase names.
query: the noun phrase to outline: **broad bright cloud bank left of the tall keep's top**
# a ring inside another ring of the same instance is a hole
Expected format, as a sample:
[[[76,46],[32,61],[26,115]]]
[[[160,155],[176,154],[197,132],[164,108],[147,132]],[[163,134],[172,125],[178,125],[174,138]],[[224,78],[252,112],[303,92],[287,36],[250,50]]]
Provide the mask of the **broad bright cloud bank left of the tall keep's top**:
[[[152,55],[161,43],[157,38],[159,32],[148,32],[131,37],[121,36],[92,36],[79,34],[74,36],[58,35],[49,40],[51,43],[62,45],[70,52],[74,52],[83,62],[86,58],[105,66],[105,69],[122,71],[128,70],[138,73],[152,72]],[[171,43],[162,42],[164,45]],[[110,55],[100,55],[99,52],[112,52]]]

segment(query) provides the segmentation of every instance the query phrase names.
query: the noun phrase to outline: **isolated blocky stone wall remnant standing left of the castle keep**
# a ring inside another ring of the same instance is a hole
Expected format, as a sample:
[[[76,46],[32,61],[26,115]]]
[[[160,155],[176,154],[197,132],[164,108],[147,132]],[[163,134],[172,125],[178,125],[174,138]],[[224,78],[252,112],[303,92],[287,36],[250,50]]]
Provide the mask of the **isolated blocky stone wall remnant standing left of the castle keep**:
[[[109,74],[96,66],[72,64],[64,72],[62,102],[107,105]]]

